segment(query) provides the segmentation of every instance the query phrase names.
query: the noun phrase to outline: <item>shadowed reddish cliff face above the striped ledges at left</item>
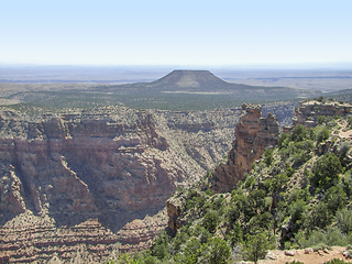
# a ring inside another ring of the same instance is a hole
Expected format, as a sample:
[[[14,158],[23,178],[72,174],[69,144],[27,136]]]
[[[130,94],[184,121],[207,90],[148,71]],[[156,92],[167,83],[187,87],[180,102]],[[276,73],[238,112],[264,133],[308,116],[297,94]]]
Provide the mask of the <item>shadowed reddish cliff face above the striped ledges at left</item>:
[[[163,205],[186,172],[170,164],[170,158],[182,161],[172,156],[151,114],[134,113],[130,123],[91,118],[96,117],[51,117],[28,123],[26,139],[1,139],[1,164],[8,175],[2,179],[9,182],[1,201],[6,196],[14,201],[9,211],[47,209],[75,221],[76,213],[81,218]],[[3,130],[10,127],[11,120],[2,120]]]

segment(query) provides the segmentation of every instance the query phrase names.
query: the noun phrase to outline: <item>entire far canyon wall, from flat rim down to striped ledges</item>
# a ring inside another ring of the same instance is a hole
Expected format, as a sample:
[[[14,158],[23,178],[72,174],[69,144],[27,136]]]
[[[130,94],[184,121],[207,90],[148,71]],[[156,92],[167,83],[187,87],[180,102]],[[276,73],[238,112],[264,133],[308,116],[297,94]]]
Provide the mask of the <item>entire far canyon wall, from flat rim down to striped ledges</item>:
[[[63,262],[77,254],[101,262],[117,248],[148,246],[167,224],[162,209],[175,188],[230,150],[237,113],[108,107],[29,117],[2,109],[0,260],[55,253]]]

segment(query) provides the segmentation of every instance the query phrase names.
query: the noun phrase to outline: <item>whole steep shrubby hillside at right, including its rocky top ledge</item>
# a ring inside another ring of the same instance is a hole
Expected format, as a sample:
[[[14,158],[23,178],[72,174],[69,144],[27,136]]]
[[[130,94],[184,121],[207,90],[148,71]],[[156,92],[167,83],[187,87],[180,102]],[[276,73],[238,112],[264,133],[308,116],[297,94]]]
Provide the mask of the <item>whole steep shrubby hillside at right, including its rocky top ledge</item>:
[[[350,109],[339,102],[302,102],[293,131],[283,133],[232,189],[213,194],[211,175],[188,190],[178,189],[167,201],[174,237],[169,243],[163,243],[163,238],[156,241],[152,255],[194,263],[350,258]],[[224,176],[229,182],[233,178],[232,174]],[[330,251],[334,245],[339,250]],[[170,254],[161,254],[164,250]],[[298,255],[302,252],[311,255]]]

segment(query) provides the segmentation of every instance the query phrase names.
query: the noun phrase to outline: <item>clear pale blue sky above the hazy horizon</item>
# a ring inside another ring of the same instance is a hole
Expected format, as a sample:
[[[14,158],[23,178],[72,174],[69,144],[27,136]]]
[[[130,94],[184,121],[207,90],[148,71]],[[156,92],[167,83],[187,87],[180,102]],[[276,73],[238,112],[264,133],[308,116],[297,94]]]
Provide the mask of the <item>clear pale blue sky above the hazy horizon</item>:
[[[344,63],[351,0],[0,1],[0,65]]]

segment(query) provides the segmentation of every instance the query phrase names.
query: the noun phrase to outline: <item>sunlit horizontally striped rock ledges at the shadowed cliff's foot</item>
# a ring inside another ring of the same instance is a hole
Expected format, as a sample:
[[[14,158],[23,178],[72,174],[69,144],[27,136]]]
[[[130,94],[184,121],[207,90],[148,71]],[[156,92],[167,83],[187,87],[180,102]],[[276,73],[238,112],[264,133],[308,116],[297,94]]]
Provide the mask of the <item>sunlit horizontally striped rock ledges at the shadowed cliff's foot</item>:
[[[147,249],[155,235],[165,229],[166,221],[164,210],[153,218],[133,220],[113,233],[98,219],[73,227],[57,227],[53,218],[26,211],[0,229],[0,263],[6,260],[11,263],[43,262],[52,258],[54,253],[66,263],[78,252],[85,262],[102,263],[113,249],[119,252]]]

